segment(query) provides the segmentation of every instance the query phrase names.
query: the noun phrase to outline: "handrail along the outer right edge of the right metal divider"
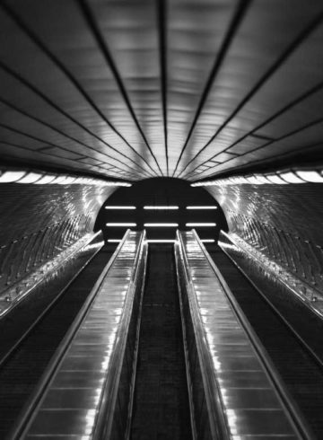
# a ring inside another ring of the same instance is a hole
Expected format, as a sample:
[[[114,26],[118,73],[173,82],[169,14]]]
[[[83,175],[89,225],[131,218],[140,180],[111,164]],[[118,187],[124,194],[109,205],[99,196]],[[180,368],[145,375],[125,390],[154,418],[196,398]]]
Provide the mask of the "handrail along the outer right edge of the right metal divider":
[[[298,434],[301,436],[301,438],[309,439],[309,440],[312,439],[313,435],[310,432],[310,427],[307,426],[307,423],[304,420],[303,416],[301,415],[301,412],[297,409],[297,407],[293,403],[292,397],[290,396],[290,393],[286,389],[286,386],[284,385],[278,372],[276,371],[275,365],[272,363],[271,359],[266,354],[265,348],[258,339],[255,330],[253,330],[253,328],[251,327],[251,324],[246,318],[244,312],[242,312],[240,305],[238,304],[237,300],[235,299],[234,295],[231,292],[231,288],[226,283],[219,268],[216,267],[214,260],[212,260],[210,254],[206,251],[205,245],[199,238],[195,229],[193,229],[193,233],[196,238],[196,242],[198,242],[198,245],[205,254],[206,260],[210,264],[211,268],[214,270],[215,276],[218,278],[219,282],[221,283],[221,286],[223,286],[223,291],[231,304],[232,310],[237,316],[238,320],[240,321],[243,329],[246,331],[249,340],[252,346],[255,348],[256,353],[258,354],[258,358],[261,364],[263,365],[264,370],[266,371],[268,378],[270,379],[271,383],[273,383],[287,417],[290,419],[293,427],[295,428],[296,432],[298,432]]]

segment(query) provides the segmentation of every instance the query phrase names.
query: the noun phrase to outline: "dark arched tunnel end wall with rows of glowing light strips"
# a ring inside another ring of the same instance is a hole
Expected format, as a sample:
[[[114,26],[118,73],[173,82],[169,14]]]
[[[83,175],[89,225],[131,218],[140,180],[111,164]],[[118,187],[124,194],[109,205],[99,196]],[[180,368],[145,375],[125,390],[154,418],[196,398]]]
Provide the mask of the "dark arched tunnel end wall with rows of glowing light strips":
[[[107,207],[120,207],[107,209]],[[135,207],[122,209],[121,207]],[[166,207],[144,209],[144,207]],[[178,207],[178,209],[167,209]],[[188,209],[188,207],[216,207],[215,209]],[[217,241],[220,230],[228,226],[223,210],[210,194],[202,188],[192,188],[185,180],[154,178],[141,180],[130,188],[121,188],[106,200],[100,209],[95,231],[102,230],[104,239],[121,239],[127,226],[107,224],[135,224],[133,230],[146,229],[148,239],[175,239],[176,229],[190,230],[195,227],[201,239]],[[144,226],[144,224],[179,224],[178,226]],[[206,223],[211,226],[191,226]]]

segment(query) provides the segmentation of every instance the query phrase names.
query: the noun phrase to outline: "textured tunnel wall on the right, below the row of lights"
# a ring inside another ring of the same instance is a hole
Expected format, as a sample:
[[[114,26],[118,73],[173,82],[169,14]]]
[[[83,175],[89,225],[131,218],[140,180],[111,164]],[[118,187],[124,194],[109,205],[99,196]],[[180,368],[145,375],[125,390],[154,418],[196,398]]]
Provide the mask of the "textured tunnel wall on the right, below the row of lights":
[[[323,290],[321,184],[238,184],[208,190],[223,207],[230,233]]]

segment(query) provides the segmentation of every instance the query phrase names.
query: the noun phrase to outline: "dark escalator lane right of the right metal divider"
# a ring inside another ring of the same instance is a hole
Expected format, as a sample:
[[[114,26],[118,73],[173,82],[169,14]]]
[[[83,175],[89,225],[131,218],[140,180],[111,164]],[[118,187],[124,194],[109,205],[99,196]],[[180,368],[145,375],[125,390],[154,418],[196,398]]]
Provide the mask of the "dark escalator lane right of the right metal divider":
[[[251,285],[231,259],[216,246],[210,252],[217,268],[282,377],[292,399],[316,438],[323,438],[323,368],[276,307]],[[292,310],[290,308],[289,313]],[[293,317],[297,319],[295,308]],[[304,317],[302,317],[304,319]]]

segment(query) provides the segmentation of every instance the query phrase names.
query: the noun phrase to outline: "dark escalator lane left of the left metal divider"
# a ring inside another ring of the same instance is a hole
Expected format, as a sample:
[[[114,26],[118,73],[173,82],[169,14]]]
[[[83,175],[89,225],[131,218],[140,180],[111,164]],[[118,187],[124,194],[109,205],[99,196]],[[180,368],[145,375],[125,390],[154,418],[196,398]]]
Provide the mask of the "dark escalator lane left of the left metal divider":
[[[22,327],[28,313],[30,325],[31,316],[34,320],[38,317],[39,307],[48,307],[48,301],[53,302],[41,319],[30,330],[26,330],[25,336],[0,365],[0,438],[6,438],[22,409],[28,404],[41,374],[46,370],[111,254],[109,248],[102,248],[56,301],[54,298],[44,298],[37,308],[30,304],[30,310],[26,310],[25,306],[17,307],[10,314],[10,319],[0,322],[2,335],[6,334],[9,339],[13,323]]]

